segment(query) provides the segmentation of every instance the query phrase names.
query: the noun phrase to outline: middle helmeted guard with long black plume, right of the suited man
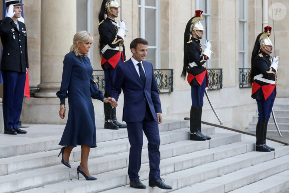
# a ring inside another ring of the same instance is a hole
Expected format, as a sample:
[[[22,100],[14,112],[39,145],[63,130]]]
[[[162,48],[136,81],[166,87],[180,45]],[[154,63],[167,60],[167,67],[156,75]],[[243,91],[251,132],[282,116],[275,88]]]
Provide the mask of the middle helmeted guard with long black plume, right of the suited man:
[[[181,77],[191,86],[192,106],[190,110],[190,140],[205,141],[211,137],[204,136],[201,132],[202,108],[205,89],[208,88],[208,72],[206,61],[211,57],[211,43],[206,40],[206,48],[202,49],[200,39],[203,36],[204,27],[201,10],[195,11],[184,32],[184,65]]]

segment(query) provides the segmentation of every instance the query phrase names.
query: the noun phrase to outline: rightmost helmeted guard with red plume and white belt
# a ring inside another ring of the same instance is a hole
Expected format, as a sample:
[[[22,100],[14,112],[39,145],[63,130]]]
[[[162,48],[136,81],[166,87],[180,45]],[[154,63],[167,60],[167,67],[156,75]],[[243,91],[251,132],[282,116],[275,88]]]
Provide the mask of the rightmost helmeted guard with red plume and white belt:
[[[257,36],[251,57],[250,83],[252,98],[258,106],[258,123],[256,126],[256,151],[271,152],[274,148],[266,145],[267,125],[276,97],[276,74],[279,57],[272,58],[273,44],[269,39],[271,27],[266,26],[264,33]]]

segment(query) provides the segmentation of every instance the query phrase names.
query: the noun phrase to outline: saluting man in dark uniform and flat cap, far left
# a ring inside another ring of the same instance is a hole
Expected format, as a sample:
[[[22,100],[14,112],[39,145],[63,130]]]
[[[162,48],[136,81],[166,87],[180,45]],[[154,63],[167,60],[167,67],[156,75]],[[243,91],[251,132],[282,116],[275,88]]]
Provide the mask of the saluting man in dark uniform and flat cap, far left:
[[[18,126],[28,68],[27,36],[25,24],[18,21],[20,0],[6,0],[6,9],[7,16],[0,20],[4,133],[16,135],[27,133]]]

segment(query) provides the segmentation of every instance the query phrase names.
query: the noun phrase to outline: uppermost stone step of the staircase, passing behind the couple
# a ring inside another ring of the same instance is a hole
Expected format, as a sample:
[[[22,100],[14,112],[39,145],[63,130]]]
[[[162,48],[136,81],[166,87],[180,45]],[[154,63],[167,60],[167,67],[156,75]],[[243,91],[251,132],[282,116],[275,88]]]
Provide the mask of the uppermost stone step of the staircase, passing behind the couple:
[[[100,120],[97,123],[97,143],[128,137],[127,129],[108,130],[102,128]],[[172,131],[187,127],[187,120],[164,120],[164,123],[159,124],[159,131]],[[40,132],[39,128],[41,128]],[[30,124],[30,128],[27,128],[28,133],[25,135],[0,134],[0,158],[60,149],[61,146],[58,143],[64,128],[65,125]]]

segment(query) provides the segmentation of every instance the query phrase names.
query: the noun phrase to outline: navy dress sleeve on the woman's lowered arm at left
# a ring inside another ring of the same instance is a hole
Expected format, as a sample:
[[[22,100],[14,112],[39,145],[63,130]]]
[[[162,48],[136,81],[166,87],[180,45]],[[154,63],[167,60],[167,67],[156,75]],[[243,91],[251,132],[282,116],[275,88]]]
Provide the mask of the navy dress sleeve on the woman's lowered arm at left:
[[[70,77],[73,67],[73,59],[70,54],[66,54],[63,60],[63,71],[60,90],[56,93],[57,97],[60,98],[60,104],[65,105],[65,99],[68,96],[68,88],[70,83]]]

